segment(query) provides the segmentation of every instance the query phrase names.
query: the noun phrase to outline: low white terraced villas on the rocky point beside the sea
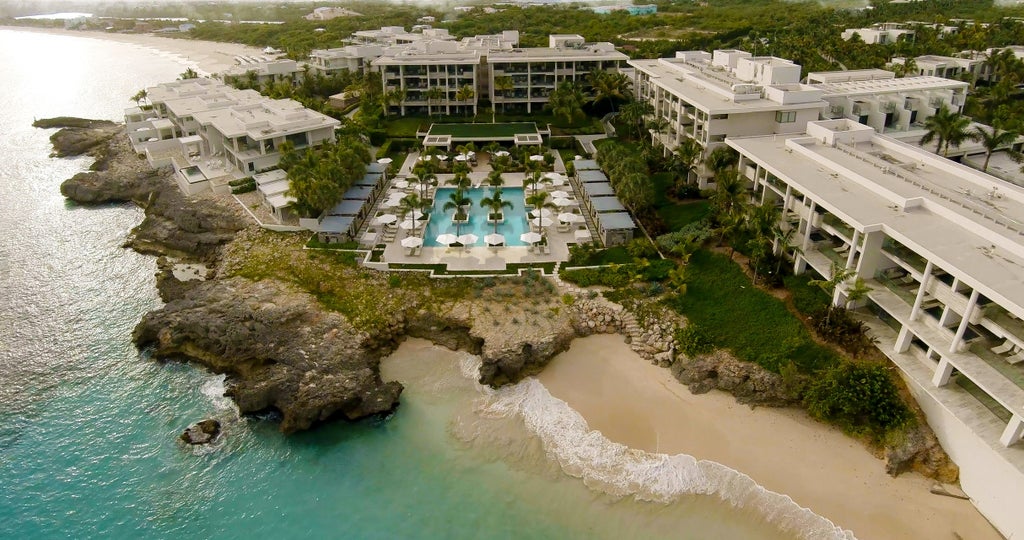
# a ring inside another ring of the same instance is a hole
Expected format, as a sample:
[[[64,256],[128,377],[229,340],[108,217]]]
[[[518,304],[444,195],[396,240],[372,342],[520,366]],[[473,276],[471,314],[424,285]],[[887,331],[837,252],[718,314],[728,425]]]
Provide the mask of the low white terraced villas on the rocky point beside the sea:
[[[272,168],[286,141],[295,148],[335,139],[340,125],[291,99],[270,99],[213,79],[146,89],[151,107],[125,111],[133,148],[153,166],[172,165],[182,191],[228,191],[227,182]]]

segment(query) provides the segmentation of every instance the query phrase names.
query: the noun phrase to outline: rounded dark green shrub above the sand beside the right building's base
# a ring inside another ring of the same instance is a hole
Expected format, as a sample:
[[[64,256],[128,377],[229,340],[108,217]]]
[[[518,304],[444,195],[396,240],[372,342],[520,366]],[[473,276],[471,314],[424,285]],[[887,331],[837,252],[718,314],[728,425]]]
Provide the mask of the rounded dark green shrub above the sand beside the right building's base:
[[[815,418],[881,440],[910,418],[887,369],[842,363],[811,381],[804,405]]]

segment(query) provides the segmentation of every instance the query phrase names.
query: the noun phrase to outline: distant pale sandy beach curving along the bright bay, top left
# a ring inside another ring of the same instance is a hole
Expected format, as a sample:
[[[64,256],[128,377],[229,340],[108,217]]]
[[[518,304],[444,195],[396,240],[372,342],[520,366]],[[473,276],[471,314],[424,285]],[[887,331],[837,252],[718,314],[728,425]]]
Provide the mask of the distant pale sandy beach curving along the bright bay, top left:
[[[261,55],[262,50],[238,43],[219,43],[215,41],[198,41],[191,39],[175,39],[155,36],[152,34],[113,34],[106,32],[86,32],[77,30],[41,29],[32,27],[0,27],[0,30],[13,32],[35,32],[57,36],[73,36],[78,38],[102,39],[131,43],[139,47],[157,51],[160,55],[169,56],[181,61],[183,67],[194,68],[200,75],[220,73],[237,63],[236,56]]]

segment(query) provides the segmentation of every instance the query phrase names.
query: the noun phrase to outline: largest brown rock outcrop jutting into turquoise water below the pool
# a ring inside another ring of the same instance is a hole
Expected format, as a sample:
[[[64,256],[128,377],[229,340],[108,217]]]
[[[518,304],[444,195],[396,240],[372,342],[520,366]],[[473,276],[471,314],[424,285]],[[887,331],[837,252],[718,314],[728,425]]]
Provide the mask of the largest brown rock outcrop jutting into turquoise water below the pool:
[[[339,314],[275,281],[197,282],[188,294],[136,326],[138,346],[157,358],[185,357],[228,375],[242,413],[278,410],[292,432],[341,416],[387,414],[401,384],[383,382],[368,336]]]

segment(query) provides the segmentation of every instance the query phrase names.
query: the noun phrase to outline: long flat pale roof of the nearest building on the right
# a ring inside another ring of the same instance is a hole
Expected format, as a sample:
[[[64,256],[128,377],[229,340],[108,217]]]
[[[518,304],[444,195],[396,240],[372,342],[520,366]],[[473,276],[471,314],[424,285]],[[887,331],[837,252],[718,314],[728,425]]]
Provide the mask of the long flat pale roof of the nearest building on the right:
[[[1024,189],[877,134],[835,147],[806,134],[726,141],[844,221],[884,230],[1024,313]]]

